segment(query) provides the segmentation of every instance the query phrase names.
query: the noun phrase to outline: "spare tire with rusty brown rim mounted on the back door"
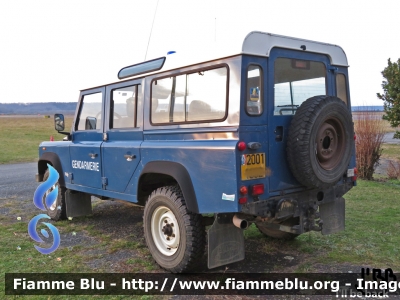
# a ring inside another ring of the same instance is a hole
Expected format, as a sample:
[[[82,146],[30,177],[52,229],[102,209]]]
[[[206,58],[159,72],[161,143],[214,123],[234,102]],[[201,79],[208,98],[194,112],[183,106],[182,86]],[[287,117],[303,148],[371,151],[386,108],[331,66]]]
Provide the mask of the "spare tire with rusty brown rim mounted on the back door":
[[[352,153],[353,121],[337,97],[315,96],[297,109],[289,128],[290,170],[303,185],[327,188],[346,173]]]

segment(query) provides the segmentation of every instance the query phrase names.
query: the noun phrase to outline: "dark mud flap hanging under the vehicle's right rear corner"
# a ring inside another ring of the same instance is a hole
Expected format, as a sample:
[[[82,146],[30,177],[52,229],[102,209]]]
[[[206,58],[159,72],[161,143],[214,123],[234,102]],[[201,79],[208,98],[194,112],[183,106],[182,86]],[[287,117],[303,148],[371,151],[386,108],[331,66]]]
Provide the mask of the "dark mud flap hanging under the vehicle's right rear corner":
[[[342,197],[321,205],[319,207],[319,213],[323,221],[321,233],[331,234],[344,230],[344,211],[345,200]]]

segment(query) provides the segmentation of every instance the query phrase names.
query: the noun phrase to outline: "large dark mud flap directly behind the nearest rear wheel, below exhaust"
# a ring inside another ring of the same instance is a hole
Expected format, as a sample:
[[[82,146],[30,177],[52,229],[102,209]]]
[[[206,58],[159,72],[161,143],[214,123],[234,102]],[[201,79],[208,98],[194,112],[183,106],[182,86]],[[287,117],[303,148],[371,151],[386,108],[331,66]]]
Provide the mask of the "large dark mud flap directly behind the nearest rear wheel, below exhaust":
[[[217,215],[208,230],[208,268],[216,268],[244,259],[243,230],[232,223],[232,217]]]

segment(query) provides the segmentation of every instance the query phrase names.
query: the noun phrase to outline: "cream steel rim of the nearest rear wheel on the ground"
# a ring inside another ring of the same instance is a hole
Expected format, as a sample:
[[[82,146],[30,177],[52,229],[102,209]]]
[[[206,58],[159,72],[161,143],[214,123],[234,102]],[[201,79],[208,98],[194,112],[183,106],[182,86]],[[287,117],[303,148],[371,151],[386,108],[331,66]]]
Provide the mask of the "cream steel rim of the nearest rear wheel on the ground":
[[[180,243],[178,221],[166,206],[157,207],[151,216],[151,235],[158,251],[166,256],[176,253]]]

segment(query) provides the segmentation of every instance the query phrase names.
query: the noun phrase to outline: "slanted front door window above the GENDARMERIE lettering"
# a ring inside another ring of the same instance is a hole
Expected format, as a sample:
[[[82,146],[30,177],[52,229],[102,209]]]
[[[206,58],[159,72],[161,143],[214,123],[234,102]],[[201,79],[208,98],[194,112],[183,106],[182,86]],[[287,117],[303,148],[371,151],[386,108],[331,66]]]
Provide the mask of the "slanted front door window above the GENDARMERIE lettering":
[[[84,95],[75,130],[101,129],[102,104],[102,93]]]

